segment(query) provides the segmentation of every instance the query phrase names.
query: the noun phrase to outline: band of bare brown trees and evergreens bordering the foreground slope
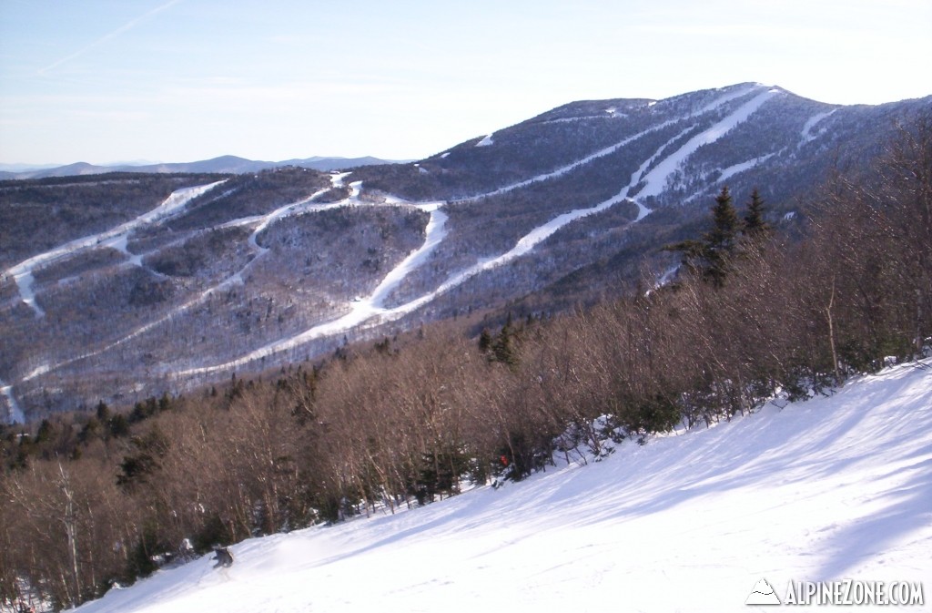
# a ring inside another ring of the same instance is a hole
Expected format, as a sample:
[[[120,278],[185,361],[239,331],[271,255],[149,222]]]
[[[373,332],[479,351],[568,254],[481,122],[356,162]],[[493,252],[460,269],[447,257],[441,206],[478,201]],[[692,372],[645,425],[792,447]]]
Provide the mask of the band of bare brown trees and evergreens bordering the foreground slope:
[[[478,340],[425,328],[272,381],[128,415],[102,406],[33,436],[7,427],[0,602],[71,606],[151,572],[185,538],[205,551],[429,503],[928,351],[929,169],[926,121],[870,183],[813,193],[802,241],[766,229],[765,202],[745,210],[723,190],[709,230],[673,245],[686,266],[670,285],[647,275],[624,300]]]

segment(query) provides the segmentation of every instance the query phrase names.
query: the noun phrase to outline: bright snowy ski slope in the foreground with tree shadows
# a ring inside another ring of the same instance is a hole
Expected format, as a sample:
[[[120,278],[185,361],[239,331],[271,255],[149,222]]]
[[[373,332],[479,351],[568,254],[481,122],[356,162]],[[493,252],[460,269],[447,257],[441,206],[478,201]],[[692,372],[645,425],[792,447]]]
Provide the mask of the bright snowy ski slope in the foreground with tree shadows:
[[[928,610],[932,361],[499,491],[233,550],[226,571],[204,557],[79,610],[720,613],[756,610],[744,603],[761,578],[781,599],[789,581],[925,580]]]

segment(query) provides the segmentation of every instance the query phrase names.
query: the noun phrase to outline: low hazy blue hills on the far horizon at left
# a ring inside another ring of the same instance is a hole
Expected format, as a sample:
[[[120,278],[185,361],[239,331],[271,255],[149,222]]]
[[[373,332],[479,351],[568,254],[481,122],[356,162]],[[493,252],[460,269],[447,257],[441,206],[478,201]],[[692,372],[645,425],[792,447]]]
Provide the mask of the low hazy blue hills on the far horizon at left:
[[[31,168],[0,170],[0,179],[40,179],[50,176],[80,176],[85,174],[103,173],[219,173],[242,174],[256,173],[269,168],[281,166],[297,166],[299,168],[312,168],[322,172],[344,170],[358,166],[372,164],[391,164],[394,160],[379,160],[378,158],[328,158],[315,156],[303,160],[260,161],[246,160],[237,156],[221,156],[212,160],[199,160],[177,163],[156,164],[117,164],[112,166],[99,166],[79,161],[65,166],[54,168]]]

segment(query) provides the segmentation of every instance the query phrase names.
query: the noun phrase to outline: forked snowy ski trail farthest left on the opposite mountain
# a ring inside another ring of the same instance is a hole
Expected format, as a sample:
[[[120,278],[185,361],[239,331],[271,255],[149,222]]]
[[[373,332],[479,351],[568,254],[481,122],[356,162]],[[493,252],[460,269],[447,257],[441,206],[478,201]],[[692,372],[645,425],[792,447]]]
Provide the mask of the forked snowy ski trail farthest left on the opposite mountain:
[[[45,312],[35,301],[35,292],[33,290],[34,276],[33,272],[42,269],[49,264],[60,261],[65,258],[71,258],[76,254],[91,247],[106,246],[122,251],[132,258],[132,255],[126,249],[127,238],[132,230],[145,224],[153,223],[167,216],[174,215],[180,209],[184,208],[188,202],[191,202],[199,195],[215,188],[224,183],[217,181],[203,186],[193,188],[176,189],[156,208],[148,213],[131,219],[111,230],[104,230],[97,234],[91,234],[83,238],[75,239],[69,243],[62,244],[54,249],[41,253],[32,258],[25,259],[19,264],[7,269],[6,274],[11,276],[16,282],[20,291],[21,300],[31,308],[37,317],[45,315]]]

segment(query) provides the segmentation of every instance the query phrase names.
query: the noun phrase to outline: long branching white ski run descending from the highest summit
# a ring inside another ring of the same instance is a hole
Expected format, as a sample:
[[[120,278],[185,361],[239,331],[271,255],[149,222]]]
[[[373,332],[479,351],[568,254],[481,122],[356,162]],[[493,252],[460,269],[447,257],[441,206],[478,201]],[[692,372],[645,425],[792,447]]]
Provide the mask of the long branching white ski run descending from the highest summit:
[[[713,101],[711,104],[707,104],[699,111],[696,111],[690,117],[705,114],[711,110],[714,110],[720,107],[720,105],[725,104],[726,102],[730,100],[747,95],[747,93],[761,89],[762,87],[763,86],[755,85],[747,89],[742,89],[741,91],[731,92],[729,94],[726,94],[725,96],[721,96],[720,98]],[[557,230],[560,230],[564,226],[567,226],[569,223],[576,221],[577,219],[580,219],[584,216],[596,215],[597,213],[606,211],[610,207],[614,206],[615,204],[618,204],[619,202],[633,202],[634,204],[637,205],[637,217],[632,221],[632,223],[637,223],[638,221],[650,215],[651,213],[651,209],[648,208],[643,202],[641,202],[639,197],[630,198],[628,196],[629,192],[640,181],[646,180],[648,182],[648,185],[652,185],[652,182],[654,181],[659,181],[659,180],[665,181],[666,177],[669,174],[673,174],[676,171],[676,169],[678,168],[678,164],[681,163],[683,160],[685,160],[687,157],[689,157],[689,155],[692,154],[692,152],[696,148],[698,148],[702,144],[714,142],[716,139],[720,138],[726,132],[729,132],[735,125],[747,119],[754,111],[756,111],[757,109],[761,107],[761,104],[765,103],[767,100],[769,100],[772,96],[774,96],[777,93],[780,93],[780,91],[771,89],[771,90],[765,91],[755,96],[753,99],[751,99],[747,103],[742,104],[737,109],[735,109],[733,113],[729,114],[725,118],[720,119],[720,121],[718,121],[712,127],[708,128],[706,131],[701,132],[700,134],[694,136],[692,139],[687,141],[686,144],[679,147],[676,151],[670,154],[667,158],[663,158],[661,164],[659,164],[656,168],[654,168],[650,173],[645,174],[646,169],[651,165],[651,163],[654,160],[661,159],[666,147],[676,142],[683,134],[692,130],[692,127],[687,128],[685,131],[680,132],[678,135],[674,136],[672,139],[667,141],[664,145],[660,146],[660,148],[658,148],[657,151],[655,151],[654,154],[651,155],[651,157],[648,160],[645,160],[644,163],[641,164],[641,166],[637,169],[637,171],[635,171],[635,173],[632,174],[631,179],[628,182],[628,185],[624,186],[624,188],[622,188],[616,195],[612,196],[610,199],[604,202],[599,202],[595,206],[581,208],[581,209],[574,209],[572,211],[569,211],[568,213],[555,216],[553,219],[551,219],[547,223],[533,230],[530,230],[527,234],[521,237],[517,241],[516,244],[514,244],[514,247],[512,247],[509,251],[506,251],[505,253],[501,254],[500,256],[497,256],[495,258],[487,258],[487,259],[483,259],[483,260],[476,262],[472,267],[454,274],[452,277],[447,279],[443,284],[438,286],[436,289],[432,290],[431,292],[421,295],[415,300],[410,300],[408,302],[405,302],[404,304],[401,304],[395,307],[386,308],[384,306],[384,300],[388,297],[391,291],[396,286],[398,286],[398,284],[401,283],[401,281],[404,279],[404,277],[408,273],[414,271],[421,264],[423,264],[427,260],[427,258],[430,256],[430,254],[432,253],[436,245],[439,244],[445,238],[446,216],[440,210],[442,208],[442,204],[437,203],[437,202],[422,204],[420,206],[424,207],[424,210],[429,210],[431,212],[431,221],[428,223],[428,227],[425,232],[426,236],[425,236],[424,244],[422,244],[421,247],[414,254],[412,254],[408,258],[405,258],[401,264],[399,264],[397,267],[395,267],[395,269],[389,272],[389,274],[383,279],[382,283],[376,288],[376,290],[373,292],[372,295],[370,295],[369,297],[365,299],[361,299],[361,300],[353,302],[350,306],[349,313],[342,315],[340,317],[337,317],[336,319],[333,319],[329,322],[324,322],[317,326],[310,327],[308,328],[308,330],[305,330],[304,332],[300,332],[295,336],[281,339],[280,341],[269,343],[265,345],[264,347],[256,349],[253,352],[250,352],[249,354],[242,355],[241,357],[237,359],[230,360],[226,363],[209,366],[209,367],[200,367],[200,368],[195,368],[195,369],[181,370],[176,373],[176,376],[184,377],[184,376],[190,376],[190,375],[203,375],[203,374],[210,374],[213,372],[218,372],[218,371],[223,371],[223,370],[228,370],[228,369],[236,369],[241,366],[247,365],[251,362],[254,362],[256,360],[261,360],[271,355],[276,355],[276,354],[280,354],[282,352],[288,351],[290,349],[295,349],[296,347],[299,347],[309,341],[314,341],[317,339],[321,339],[321,338],[336,335],[336,334],[342,334],[342,333],[348,332],[350,329],[353,329],[353,328],[375,327],[381,324],[385,324],[385,323],[400,319],[404,315],[408,313],[412,313],[416,311],[418,308],[430,302],[431,300],[436,299],[438,296],[441,296],[445,294],[446,292],[454,289],[455,287],[462,285],[469,279],[473,278],[473,276],[481,272],[487,272],[494,268],[498,268],[514,260],[515,258],[520,258],[521,256],[528,254],[528,252],[530,252],[534,247],[536,247],[538,244],[541,244],[544,240],[546,240],[551,235],[553,235]],[[664,126],[671,125],[679,120],[681,120],[681,118],[671,119],[665,122]],[[660,129],[660,126],[655,126],[654,128],[651,128],[648,131],[640,132],[639,134],[636,134],[635,136],[631,136],[625,139],[623,141],[623,144],[630,143],[636,140],[637,138],[640,138],[646,133],[654,132],[659,129]],[[596,152],[596,154],[588,156],[587,158],[583,160],[574,162],[573,164],[570,164],[569,166],[566,166],[563,169],[555,171],[555,173],[562,174],[563,172],[568,172],[572,168],[576,168],[577,166],[582,165],[586,161],[595,160],[597,157],[608,155],[611,151],[616,150],[619,146],[622,146],[622,144],[610,146],[605,149],[602,149]],[[667,160],[675,160],[676,163],[666,164]],[[663,170],[658,170],[661,168]],[[549,178],[550,176],[554,176],[554,175],[555,175],[554,173],[540,175],[533,179],[529,179],[528,181],[524,181],[520,184],[515,184],[515,186],[510,186],[508,188],[501,188],[500,190],[497,190],[495,192],[490,192],[489,194],[486,194],[486,196],[492,195],[494,193],[501,193],[502,190],[509,190],[509,189],[520,187],[520,186],[526,186],[529,183],[532,183],[536,180],[541,180],[541,177]],[[482,196],[475,197],[475,198],[481,198],[481,197]]]

